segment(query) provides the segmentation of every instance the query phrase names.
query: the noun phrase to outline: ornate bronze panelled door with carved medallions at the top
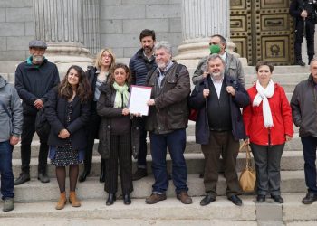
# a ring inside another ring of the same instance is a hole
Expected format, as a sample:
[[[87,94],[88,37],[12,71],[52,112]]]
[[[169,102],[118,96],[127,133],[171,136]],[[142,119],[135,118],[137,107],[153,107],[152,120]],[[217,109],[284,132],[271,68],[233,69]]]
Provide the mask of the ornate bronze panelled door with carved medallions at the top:
[[[231,0],[231,40],[250,65],[293,63],[293,18],[290,0]]]

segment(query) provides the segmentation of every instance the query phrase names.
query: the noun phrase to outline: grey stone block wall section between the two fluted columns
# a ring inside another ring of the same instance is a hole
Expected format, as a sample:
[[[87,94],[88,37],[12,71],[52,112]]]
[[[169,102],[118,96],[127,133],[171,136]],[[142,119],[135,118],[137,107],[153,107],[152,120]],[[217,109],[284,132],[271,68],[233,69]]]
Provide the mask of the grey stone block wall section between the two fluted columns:
[[[182,42],[181,0],[101,0],[101,47],[129,58],[139,49],[139,33],[148,28],[166,40],[174,54]]]

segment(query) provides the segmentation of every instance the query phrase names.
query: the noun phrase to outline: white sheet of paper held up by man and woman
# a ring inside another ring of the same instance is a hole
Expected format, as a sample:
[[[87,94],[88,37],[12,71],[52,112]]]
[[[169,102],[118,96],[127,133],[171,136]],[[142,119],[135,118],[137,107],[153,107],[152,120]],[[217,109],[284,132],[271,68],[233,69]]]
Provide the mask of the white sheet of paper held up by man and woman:
[[[134,86],[130,87],[130,98],[128,108],[130,113],[141,113],[142,116],[148,116],[149,106],[147,104],[150,99],[152,88],[145,86]]]

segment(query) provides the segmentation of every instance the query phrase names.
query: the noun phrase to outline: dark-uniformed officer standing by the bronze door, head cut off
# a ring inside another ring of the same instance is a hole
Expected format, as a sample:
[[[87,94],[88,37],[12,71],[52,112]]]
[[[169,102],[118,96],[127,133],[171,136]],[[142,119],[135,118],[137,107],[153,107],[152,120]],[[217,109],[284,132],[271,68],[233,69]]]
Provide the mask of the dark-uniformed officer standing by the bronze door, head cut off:
[[[302,60],[303,37],[306,37],[308,64],[314,55],[314,33],[317,21],[316,0],[293,0],[290,5],[290,14],[295,18],[295,64],[305,66]]]

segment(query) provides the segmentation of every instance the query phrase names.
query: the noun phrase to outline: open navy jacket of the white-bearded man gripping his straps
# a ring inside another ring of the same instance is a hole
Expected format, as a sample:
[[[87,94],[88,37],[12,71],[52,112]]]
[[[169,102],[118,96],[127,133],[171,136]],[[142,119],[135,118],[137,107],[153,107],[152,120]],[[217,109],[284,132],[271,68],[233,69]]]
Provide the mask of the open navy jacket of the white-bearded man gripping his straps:
[[[193,90],[190,98],[189,105],[191,108],[198,110],[197,121],[195,126],[196,142],[198,144],[207,145],[209,143],[209,125],[208,125],[208,112],[207,101],[204,99],[203,90],[208,87],[209,77],[200,81]],[[231,77],[225,77],[227,86],[233,86],[235,89],[235,97],[230,95],[230,113],[232,123],[232,134],[235,140],[245,139],[245,126],[241,116],[240,108],[245,108],[250,103],[249,95],[245,88],[237,80]]]

